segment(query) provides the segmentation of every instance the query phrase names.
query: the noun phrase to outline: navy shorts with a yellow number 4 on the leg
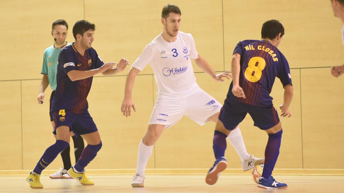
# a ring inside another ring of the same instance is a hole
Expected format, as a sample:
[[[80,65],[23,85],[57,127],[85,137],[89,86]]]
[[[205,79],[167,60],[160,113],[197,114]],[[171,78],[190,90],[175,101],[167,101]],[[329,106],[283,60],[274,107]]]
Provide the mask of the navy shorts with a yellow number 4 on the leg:
[[[84,135],[96,132],[97,126],[93,118],[88,113],[76,114],[71,113],[67,109],[54,111],[51,113],[54,118],[55,128],[53,134],[56,135],[56,128],[60,126],[69,126],[69,131],[72,131],[75,136]]]

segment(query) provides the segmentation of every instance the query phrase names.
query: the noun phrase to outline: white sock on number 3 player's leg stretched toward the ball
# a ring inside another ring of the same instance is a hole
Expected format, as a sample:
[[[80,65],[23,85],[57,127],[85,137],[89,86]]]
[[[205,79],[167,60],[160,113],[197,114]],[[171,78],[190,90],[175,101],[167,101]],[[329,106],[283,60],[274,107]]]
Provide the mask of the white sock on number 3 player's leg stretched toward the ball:
[[[244,139],[243,139],[243,136],[241,135],[241,131],[239,127],[237,129],[232,130],[229,133],[227,139],[229,143],[234,147],[235,151],[240,157],[241,162],[243,162],[247,158],[248,154],[247,154]]]

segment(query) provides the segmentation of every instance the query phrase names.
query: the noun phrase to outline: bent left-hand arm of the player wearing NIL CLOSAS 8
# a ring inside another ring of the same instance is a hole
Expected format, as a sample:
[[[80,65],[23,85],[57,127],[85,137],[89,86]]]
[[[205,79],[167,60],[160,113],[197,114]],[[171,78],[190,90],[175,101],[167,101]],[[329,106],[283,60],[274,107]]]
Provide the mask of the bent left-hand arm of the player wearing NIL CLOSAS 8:
[[[244,90],[239,85],[240,58],[241,58],[240,54],[238,54],[238,53],[233,54],[233,58],[232,58],[232,76],[233,76],[232,93],[236,97],[246,99]]]

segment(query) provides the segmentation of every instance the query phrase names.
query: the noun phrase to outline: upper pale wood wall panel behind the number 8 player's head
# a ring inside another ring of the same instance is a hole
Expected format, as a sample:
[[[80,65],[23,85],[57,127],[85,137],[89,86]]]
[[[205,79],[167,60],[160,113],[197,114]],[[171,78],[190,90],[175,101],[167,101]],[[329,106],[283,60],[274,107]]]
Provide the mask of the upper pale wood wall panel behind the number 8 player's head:
[[[261,39],[262,24],[279,20],[285,35],[278,47],[291,68],[329,67],[342,64],[341,21],[334,18],[331,2],[322,0],[223,1],[225,68],[235,45],[245,39]],[[259,8],[259,9],[257,9]]]

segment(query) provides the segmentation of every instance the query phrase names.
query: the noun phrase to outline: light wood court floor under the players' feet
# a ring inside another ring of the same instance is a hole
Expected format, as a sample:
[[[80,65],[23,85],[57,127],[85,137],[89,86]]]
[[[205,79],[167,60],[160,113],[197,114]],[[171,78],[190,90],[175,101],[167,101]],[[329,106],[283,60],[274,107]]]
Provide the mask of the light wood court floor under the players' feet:
[[[275,179],[288,184],[287,189],[264,190],[257,188],[250,175],[221,175],[215,185],[204,182],[205,175],[146,175],[144,188],[131,188],[132,175],[88,175],[94,186],[83,186],[74,179],[50,179],[42,176],[44,189],[31,189],[26,176],[0,176],[0,192],[124,192],[124,193],[202,193],[202,192],[285,192],[323,193],[344,192],[344,176],[276,175]]]

